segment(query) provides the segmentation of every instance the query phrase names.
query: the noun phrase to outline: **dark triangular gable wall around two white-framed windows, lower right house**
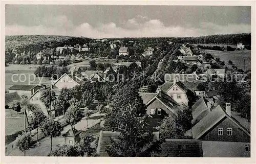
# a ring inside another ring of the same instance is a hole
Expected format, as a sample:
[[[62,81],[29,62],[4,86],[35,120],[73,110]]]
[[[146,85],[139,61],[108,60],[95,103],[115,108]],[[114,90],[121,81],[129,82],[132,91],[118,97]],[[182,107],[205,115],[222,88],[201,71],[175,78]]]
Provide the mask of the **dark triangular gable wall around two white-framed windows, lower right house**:
[[[223,135],[218,135],[218,128],[223,128]],[[227,128],[232,128],[232,135],[227,135]],[[222,142],[250,142],[250,136],[227,118],[215,126],[211,131],[201,136],[200,139]]]

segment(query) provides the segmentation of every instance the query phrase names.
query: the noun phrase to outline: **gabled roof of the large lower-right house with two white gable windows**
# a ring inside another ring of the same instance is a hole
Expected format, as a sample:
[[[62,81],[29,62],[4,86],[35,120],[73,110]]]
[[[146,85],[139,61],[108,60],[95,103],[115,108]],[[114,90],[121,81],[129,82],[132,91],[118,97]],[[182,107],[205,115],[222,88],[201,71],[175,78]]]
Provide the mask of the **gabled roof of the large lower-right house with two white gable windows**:
[[[218,105],[211,112],[209,112],[204,118],[199,121],[195,126],[192,127],[193,138],[199,139],[202,135],[204,135],[207,131],[212,129],[216,124],[218,124],[224,118],[229,119],[234,124],[236,124],[240,129],[242,129],[247,135],[250,136],[250,132],[248,129],[243,127],[236,119],[232,118],[232,116],[228,116],[221,105]]]

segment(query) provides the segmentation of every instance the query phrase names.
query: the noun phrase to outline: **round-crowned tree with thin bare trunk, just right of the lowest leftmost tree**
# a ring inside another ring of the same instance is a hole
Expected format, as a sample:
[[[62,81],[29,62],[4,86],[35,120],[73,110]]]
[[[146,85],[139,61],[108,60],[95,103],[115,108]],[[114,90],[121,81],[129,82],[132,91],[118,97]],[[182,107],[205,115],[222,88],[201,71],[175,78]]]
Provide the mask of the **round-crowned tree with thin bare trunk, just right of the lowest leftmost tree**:
[[[61,131],[63,131],[63,127],[60,125],[59,122],[56,122],[51,118],[48,118],[44,122],[41,123],[41,131],[46,136],[50,136],[51,151],[52,151],[52,138],[60,136]]]

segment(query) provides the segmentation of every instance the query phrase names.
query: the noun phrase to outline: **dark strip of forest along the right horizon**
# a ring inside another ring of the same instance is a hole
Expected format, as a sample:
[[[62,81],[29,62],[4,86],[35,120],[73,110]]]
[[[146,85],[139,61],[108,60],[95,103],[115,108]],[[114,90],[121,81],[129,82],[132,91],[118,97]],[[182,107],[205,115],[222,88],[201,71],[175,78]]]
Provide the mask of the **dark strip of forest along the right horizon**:
[[[243,44],[250,46],[251,33],[172,38],[171,41],[190,44],[237,44],[238,42],[242,42]]]

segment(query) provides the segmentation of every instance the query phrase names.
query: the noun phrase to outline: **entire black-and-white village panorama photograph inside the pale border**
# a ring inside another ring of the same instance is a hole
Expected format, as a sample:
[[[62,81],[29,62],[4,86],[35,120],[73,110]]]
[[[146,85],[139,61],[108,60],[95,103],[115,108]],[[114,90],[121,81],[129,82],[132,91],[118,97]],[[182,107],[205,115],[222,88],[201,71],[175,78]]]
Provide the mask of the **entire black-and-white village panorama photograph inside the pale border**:
[[[251,6],[4,9],[5,156],[252,157]]]

